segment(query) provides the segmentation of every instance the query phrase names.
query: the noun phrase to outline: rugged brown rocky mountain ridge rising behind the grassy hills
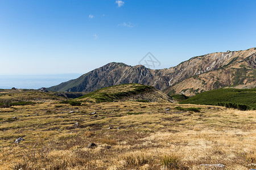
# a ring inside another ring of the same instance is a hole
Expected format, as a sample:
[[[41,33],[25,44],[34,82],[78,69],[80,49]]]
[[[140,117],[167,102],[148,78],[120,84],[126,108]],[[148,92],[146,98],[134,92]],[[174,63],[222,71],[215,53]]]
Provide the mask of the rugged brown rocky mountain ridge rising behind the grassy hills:
[[[181,62],[169,69],[151,70],[142,65],[108,63],[77,79],[48,88],[51,91],[91,92],[123,83],[140,83],[159,90],[194,95],[230,85],[256,84],[256,48],[211,53]]]

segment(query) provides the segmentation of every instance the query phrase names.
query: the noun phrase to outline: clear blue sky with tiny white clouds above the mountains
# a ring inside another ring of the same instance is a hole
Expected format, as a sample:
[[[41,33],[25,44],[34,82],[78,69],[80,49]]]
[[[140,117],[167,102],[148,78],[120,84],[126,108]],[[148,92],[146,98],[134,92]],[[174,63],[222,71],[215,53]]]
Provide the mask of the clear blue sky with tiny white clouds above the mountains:
[[[138,65],[151,52],[176,66],[256,47],[256,1],[0,1],[0,75],[87,73]]]

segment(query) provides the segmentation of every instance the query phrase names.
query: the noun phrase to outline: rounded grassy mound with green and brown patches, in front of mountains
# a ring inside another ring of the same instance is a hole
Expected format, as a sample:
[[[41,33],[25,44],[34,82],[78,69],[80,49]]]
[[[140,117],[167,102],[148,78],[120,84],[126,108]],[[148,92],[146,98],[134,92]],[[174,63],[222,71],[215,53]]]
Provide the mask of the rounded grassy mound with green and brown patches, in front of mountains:
[[[163,92],[156,90],[151,86],[144,86],[142,84],[120,84],[116,86],[110,86],[101,88],[84,96],[81,96],[75,100],[91,100],[96,103],[112,102],[112,101],[168,101],[168,97]]]

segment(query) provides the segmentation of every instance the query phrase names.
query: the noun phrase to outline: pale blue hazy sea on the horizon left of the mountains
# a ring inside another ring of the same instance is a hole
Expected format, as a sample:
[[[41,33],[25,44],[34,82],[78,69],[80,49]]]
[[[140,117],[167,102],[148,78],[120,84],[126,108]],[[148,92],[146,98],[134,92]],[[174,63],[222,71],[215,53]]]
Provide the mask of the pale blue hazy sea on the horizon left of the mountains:
[[[55,75],[0,75],[0,88],[26,88],[38,89],[51,87],[71,79],[76,79],[81,74],[55,74]]]

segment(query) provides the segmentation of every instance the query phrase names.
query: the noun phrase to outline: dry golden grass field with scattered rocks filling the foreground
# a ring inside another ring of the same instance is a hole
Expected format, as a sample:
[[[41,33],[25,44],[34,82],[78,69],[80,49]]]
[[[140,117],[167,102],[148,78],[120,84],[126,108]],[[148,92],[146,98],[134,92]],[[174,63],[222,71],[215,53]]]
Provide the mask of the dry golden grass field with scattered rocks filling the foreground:
[[[206,169],[200,164],[218,163],[225,169],[256,168],[255,111],[129,101],[84,104],[1,108],[0,169]],[[202,109],[177,111],[177,106]],[[25,141],[15,144],[19,137]],[[91,142],[97,146],[87,148]]]

